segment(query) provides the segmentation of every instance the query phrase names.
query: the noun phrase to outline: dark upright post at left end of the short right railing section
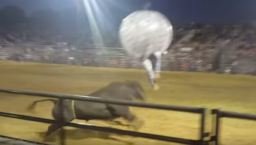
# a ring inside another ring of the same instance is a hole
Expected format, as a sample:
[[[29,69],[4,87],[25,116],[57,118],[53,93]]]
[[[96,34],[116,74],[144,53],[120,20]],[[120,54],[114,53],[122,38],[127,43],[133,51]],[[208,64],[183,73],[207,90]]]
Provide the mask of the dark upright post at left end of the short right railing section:
[[[221,118],[221,111],[219,109],[212,109],[212,134],[211,142],[213,145],[219,145],[219,122]]]

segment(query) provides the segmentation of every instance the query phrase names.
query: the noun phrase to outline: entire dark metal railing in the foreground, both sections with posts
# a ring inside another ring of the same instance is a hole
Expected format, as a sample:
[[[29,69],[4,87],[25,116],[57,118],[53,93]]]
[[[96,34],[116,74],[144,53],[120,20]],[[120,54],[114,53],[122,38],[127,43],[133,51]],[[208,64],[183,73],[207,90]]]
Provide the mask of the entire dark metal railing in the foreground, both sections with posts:
[[[200,139],[199,140],[190,140],[184,138],[175,138],[170,136],[161,136],[156,134],[147,134],[147,133],[139,133],[135,131],[126,131],[121,129],[113,129],[109,127],[98,127],[93,125],[81,125],[71,122],[58,121],[58,120],[50,120],[45,118],[37,118],[31,116],[24,116],[14,113],[6,113],[0,112],[0,116],[8,117],[8,118],[16,118],[21,120],[29,120],[35,122],[49,123],[49,124],[57,124],[62,126],[69,127],[77,127],[82,129],[91,129],[96,131],[103,131],[115,134],[123,134],[128,136],[149,138],[155,140],[168,141],[173,143],[182,143],[187,145],[209,145],[209,143],[214,143],[214,145],[219,145],[219,132],[220,132],[220,119],[221,118],[237,118],[244,120],[254,120],[256,121],[256,115],[246,114],[246,113],[236,113],[230,111],[222,111],[220,109],[212,109],[212,131],[209,134],[205,131],[205,120],[206,120],[206,107],[188,107],[188,106],[171,106],[171,105],[163,105],[163,104],[152,104],[152,103],[144,103],[144,102],[132,102],[132,101],[124,101],[124,100],[113,100],[113,99],[102,99],[99,97],[90,97],[90,96],[82,96],[82,95],[67,95],[67,94],[58,94],[58,93],[42,93],[42,92],[34,92],[34,91],[19,91],[12,89],[2,89],[0,88],[0,92],[2,93],[14,93],[20,95],[31,95],[31,96],[40,96],[40,97],[51,97],[58,98],[60,100],[80,100],[80,101],[88,101],[88,102],[97,102],[97,103],[108,103],[108,104],[117,104],[117,105],[125,105],[125,106],[134,106],[134,107],[142,107],[149,109],[162,109],[162,110],[172,110],[172,111],[182,111],[189,113],[199,113],[201,114],[200,121]],[[61,102],[62,102],[61,101]],[[63,106],[60,106],[61,110],[63,110]],[[62,114],[63,115],[63,114]],[[209,137],[209,140],[205,140],[206,137]],[[65,145],[65,130],[63,127],[61,128],[61,145]]]

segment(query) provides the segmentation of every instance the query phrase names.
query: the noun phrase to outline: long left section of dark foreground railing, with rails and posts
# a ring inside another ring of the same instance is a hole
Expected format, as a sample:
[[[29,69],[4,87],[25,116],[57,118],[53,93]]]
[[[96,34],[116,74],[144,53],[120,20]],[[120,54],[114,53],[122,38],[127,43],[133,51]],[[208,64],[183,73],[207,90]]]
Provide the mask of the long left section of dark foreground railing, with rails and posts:
[[[187,107],[187,106],[171,106],[171,105],[163,105],[163,104],[151,104],[151,103],[144,103],[144,102],[132,102],[132,101],[124,101],[124,100],[113,100],[113,99],[102,99],[99,97],[90,97],[90,96],[81,96],[81,95],[66,95],[66,94],[57,94],[57,93],[42,93],[42,92],[34,92],[34,91],[19,91],[19,90],[10,90],[10,89],[2,89],[0,88],[0,92],[2,93],[14,93],[20,95],[31,95],[31,96],[40,96],[40,97],[50,97],[50,98],[57,98],[63,102],[64,99],[67,100],[80,100],[80,101],[88,101],[88,102],[97,102],[97,103],[108,103],[108,104],[117,104],[117,105],[126,105],[126,106],[134,106],[134,107],[142,107],[142,108],[150,108],[150,109],[163,109],[163,110],[171,110],[171,111],[182,111],[182,112],[189,112],[189,113],[199,113],[201,114],[201,121],[200,121],[200,139],[198,140],[190,140],[184,138],[175,138],[169,136],[160,136],[156,134],[146,134],[146,133],[139,133],[135,131],[125,131],[121,129],[113,129],[109,127],[98,127],[93,125],[81,125],[71,122],[64,122],[58,120],[50,120],[44,118],[37,118],[31,116],[24,116],[19,114],[13,113],[6,113],[0,112],[0,116],[8,117],[8,118],[16,118],[21,120],[29,120],[35,122],[42,122],[48,124],[57,124],[62,126],[69,126],[69,127],[77,127],[82,129],[91,129],[96,131],[103,131],[115,134],[123,134],[128,136],[135,136],[135,137],[142,137],[142,138],[149,138],[155,140],[163,140],[173,143],[181,143],[187,145],[208,145],[208,141],[205,140],[205,137],[209,136],[209,133],[205,132],[205,112],[206,107]],[[60,109],[62,110],[62,118],[63,118],[63,104],[61,103]],[[61,127],[61,145],[65,145],[65,130]]]

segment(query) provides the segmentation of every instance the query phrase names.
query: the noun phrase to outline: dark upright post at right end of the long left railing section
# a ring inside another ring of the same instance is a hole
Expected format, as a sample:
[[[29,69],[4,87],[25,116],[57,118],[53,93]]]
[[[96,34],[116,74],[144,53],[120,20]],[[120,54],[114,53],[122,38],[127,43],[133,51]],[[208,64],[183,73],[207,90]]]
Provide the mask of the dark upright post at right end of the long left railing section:
[[[201,113],[201,130],[200,130],[200,145],[208,145],[208,141],[205,141],[205,137],[209,136],[209,133],[205,132],[205,112],[207,107],[202,108]]]

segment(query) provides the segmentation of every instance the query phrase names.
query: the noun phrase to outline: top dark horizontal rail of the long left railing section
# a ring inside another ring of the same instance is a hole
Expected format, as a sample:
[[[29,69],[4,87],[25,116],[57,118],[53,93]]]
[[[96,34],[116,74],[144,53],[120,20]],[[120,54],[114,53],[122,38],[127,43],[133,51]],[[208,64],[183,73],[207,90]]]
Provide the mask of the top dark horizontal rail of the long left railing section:
[[[145,102],[103,99],[100,97],[90,97],[90,96],[82,96],[82,95],[43,93],[43,92],[21,91],[21,90],[12,90],[12,89],[3,89],[3,88],[0,88],[0,92],[20,94],[20,95],[32,95],[32,96],[40,96],[40,97],[50,97],[50,98],[58,98],[58,99],[67,99],[67,100],[80,100],[80,101],[106,103],[106,104],[117,104],[117,105],[134,106],[134,107],[151,108],[151,109],[182,111],[182,112],[189,112],[189,113],[203,113],[205,110],[205,108],[203,108],[203,107],[171,106],[171,105],[153,104],[153,103],[145,103]]]

